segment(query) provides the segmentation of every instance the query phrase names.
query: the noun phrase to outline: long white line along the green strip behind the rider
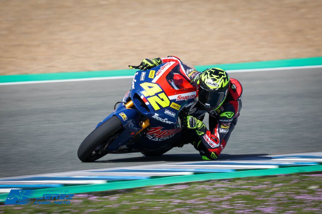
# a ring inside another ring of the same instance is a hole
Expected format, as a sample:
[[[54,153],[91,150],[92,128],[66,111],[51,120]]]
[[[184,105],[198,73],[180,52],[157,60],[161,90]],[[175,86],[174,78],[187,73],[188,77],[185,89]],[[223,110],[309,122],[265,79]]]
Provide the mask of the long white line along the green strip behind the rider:
[[[320,68],[322,65],[317,66],[294,66],[294,67],[274,67],[274,68],[256,68],[256,69],[240,69],[240,70],[226,70],[228,73],[239,72],[255,72],[255,71],[276,71],[276,70],[292,70],[292,69],[306,69],[306,68]],[[107,79],[129,79],[133,76],[109,76],[109,77],[92,77],[80,79],[62,79],[62,80],[41,80],[41,81],[24,81],[24,82],[9,82],[0,83],[0,85],[22,85],[22,84],[35,84],[35,83],[61,83],[61,82],[77,82],[77,81],[90,81],[90,80],[107,80]]]

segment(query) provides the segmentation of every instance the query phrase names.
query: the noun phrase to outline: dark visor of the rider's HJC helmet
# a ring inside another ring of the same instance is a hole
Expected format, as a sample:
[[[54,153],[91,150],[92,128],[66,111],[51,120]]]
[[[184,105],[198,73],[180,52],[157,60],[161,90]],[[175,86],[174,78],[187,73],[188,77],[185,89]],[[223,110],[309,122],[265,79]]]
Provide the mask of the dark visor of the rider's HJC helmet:
[[[227,92],[228,88],[223,92],[213,92],[208,91],[207,89],[204,89],[201,85],[199,85],[199,102],[202,104],[202,107],[204,107],[206,111],[214,111],[222,105],[223,101],[226,98]]]

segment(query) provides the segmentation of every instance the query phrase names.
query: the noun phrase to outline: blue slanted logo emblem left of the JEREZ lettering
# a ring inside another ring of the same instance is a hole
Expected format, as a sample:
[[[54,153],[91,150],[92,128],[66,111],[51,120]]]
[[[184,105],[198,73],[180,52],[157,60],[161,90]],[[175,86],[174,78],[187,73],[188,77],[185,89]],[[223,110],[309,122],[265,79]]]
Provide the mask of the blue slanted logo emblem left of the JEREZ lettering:
[[[5,204],[30,204],[35,190],[10,190]]]

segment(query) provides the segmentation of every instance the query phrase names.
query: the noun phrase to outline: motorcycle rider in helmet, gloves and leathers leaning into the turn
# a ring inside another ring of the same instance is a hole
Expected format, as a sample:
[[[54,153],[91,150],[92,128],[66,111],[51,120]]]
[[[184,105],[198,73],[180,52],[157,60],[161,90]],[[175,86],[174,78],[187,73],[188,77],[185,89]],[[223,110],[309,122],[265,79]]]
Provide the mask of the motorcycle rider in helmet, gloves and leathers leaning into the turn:
[[[230,78],[221,68],[208,68],[199,72],[185,65],[175,56],[144,59],[139,66],[129,66],[147,70],[166,62],[178,62],[179,73],[197,88],[195,102],[187,106],[183,131],[183,144],[191,142],[203,160],[218,158],[227,144],[242,108],[242,85]],[[202,122],[205,113],[209,114],[209,129]]]

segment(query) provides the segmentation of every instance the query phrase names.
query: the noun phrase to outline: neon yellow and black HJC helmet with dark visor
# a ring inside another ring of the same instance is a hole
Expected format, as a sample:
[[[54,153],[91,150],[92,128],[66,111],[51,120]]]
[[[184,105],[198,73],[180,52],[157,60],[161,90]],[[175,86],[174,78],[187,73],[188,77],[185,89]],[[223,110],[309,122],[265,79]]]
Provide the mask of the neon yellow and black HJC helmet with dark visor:
[[[198,98],[206,111],[217,110],[225,101],[230,86],[230,78],[221,68],[208,68],[199,79]]]

